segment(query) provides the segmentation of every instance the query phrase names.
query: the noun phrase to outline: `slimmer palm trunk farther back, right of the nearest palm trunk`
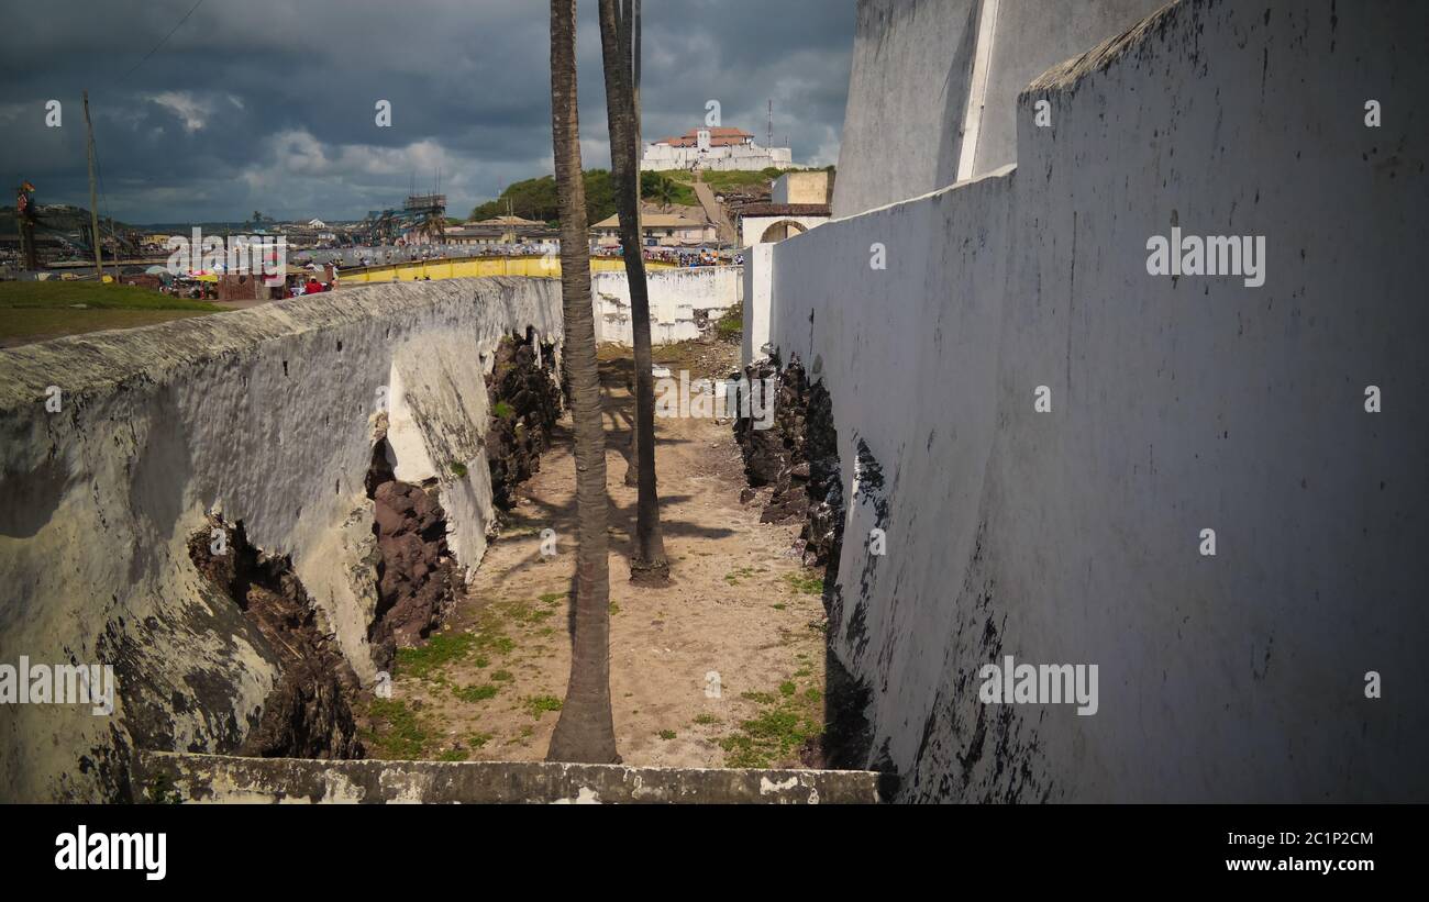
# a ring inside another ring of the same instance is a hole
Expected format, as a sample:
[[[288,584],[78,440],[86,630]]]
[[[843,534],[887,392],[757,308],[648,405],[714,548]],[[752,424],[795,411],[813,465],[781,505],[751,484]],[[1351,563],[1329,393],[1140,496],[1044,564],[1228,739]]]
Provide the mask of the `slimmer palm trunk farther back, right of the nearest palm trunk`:
[[[634,333],[634,458],[639,467],[634,554],[630,579],[662,582],[670,575],[660,534],[660,495],[654,475],[654,375],[650,354],[650,295],[640,250],[640,171],[634,153],[634,88],[632,86],[630,0],[600,0],[600,49],[606,71],[606,111],[610,123],[610,168],[616,181],[620,247],[630,283],[630,325]]]

